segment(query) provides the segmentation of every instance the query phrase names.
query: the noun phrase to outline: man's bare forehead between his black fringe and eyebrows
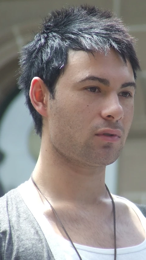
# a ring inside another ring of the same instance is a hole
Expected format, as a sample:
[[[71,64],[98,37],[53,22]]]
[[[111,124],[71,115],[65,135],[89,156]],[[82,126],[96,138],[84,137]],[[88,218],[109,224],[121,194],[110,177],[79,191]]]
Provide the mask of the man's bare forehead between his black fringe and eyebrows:
[[[111,79],[122,80],[123,77],[123,81],[134,81],[130,62],[127,60],[127,64],[125,64],[114,49],[110,49],[107,55],[100,52],[70,50],[63,77],[79,81],[87,75],[108,78],[109,81]]]

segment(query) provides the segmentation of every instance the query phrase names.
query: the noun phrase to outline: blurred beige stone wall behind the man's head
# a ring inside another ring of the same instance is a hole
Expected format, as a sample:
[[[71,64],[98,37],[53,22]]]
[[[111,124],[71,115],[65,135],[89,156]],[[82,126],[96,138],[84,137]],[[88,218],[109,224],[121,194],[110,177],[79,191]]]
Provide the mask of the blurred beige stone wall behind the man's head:
[[[85,1],[25,0],[0,1],[0,102],[15,88],[18,52],[36,31],[52,9],[79,5]],[[131,131],[120,156],[118,193],[146,204],[146,1],[145,0],[90,0],[89,4],[113,9],[124,20],[137,40],[137,54],[143,74],[137,80],[135,114]]]

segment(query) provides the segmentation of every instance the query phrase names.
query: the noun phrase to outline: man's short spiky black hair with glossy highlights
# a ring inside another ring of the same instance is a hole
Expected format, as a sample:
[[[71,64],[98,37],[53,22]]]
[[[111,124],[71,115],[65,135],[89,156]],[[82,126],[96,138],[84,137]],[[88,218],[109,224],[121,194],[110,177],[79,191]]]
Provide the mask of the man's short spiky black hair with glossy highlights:
[[[55,83],[67,62],[69,49],[107,54],[110,47],[119,52],[125,63],[129,60],[136,78],[140,66],[134,40],[111,11],[81,5],[62,8],[45,17],[41,31],[22,49],[18,80],[37,134],[42,135],[42,116],[30,101],[32,79],[36,76],[41,78],[54,99]]]

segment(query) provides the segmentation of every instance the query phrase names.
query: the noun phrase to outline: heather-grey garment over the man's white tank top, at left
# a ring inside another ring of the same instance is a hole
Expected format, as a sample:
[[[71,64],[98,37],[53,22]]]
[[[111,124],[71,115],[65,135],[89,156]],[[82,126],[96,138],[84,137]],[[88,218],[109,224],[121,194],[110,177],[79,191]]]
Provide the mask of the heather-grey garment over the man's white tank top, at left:
[[[0,259],[51,259],[50,255],[43,232],[19,189],[6,193],[0,198]]]

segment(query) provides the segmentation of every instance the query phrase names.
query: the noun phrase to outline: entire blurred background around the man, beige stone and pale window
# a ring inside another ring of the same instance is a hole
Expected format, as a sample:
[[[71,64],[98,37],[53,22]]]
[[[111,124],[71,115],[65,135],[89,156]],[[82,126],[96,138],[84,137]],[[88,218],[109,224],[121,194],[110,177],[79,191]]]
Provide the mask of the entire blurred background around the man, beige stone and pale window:
[[[146,204],[146,1],[0,0],[0,196],[30,178],[40,138],[17,89],[18,56],[42,18],[53,9],[88,3],[112,9],[137,39],[142,71],[137,78],[133,124],[119,159],[106,168],[112,193]]]

